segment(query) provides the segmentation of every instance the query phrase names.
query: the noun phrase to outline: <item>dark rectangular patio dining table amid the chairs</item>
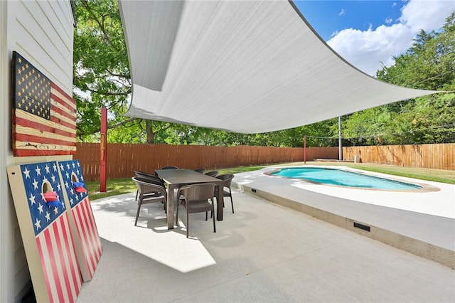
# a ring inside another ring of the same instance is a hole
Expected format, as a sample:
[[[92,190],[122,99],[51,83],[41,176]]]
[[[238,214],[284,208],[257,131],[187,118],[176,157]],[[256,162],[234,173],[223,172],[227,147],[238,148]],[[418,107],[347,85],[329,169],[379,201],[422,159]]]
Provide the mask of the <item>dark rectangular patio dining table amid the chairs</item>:
[[[168,229],[173,228],[173,206],[174,206],[174,190],[178,189],[181,186],[187,184],[197,184],[197,183],[213,183],[216,186],[223,186],[223,180],[207,176],[205,174],[200,174],[197,171],[192,171],[191,169],[157,169],[155,171],[156,176],[159,176],[163,179],[166,184],[168,184],[168,198],[166,202],[167,213],[166,218],[168,221]],[[223,188],[220,188],[218,191],[217,201],[217,211],[216,219],[223,220]]]

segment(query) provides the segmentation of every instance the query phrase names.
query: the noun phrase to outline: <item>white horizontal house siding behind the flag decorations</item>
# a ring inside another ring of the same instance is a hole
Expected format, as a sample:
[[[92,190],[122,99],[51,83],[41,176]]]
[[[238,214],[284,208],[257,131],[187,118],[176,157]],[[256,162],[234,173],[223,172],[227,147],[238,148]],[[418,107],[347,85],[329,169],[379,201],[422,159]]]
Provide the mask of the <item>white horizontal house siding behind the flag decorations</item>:
[[[0,1],[0,302],[20,302],[31,285],[6,166],[72,158],[12,155],[12,52],[73,95],[73,23],[70,1]]]

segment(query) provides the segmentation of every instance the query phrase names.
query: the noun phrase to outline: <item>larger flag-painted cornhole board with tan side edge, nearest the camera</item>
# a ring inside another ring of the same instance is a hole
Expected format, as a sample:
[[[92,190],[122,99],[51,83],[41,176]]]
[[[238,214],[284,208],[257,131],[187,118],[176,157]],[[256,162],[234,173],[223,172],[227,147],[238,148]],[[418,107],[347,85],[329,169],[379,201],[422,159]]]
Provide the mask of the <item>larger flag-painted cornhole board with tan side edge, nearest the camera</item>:
[[[75,302],[82,277],[57,162],[7,171],[37,302]]]

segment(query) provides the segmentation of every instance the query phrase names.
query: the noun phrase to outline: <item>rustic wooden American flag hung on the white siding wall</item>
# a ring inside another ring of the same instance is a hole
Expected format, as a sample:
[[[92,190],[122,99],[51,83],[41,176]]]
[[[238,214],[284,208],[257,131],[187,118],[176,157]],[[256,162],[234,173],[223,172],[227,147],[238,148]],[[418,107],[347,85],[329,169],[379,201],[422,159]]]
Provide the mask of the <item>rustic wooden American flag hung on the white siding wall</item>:
[[[74,155],[75,100],[15,51],[11,69],[13,155]]]

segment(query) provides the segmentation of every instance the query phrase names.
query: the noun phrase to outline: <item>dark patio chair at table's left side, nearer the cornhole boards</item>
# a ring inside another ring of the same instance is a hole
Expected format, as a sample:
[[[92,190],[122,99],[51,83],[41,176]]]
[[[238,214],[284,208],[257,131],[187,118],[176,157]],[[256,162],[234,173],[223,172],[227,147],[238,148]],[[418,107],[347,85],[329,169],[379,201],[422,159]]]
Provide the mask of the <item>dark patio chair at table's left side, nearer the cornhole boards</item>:
[[[134,226],[137,225],[137,219],[139,218],[139,212],[141,211],[142,204],[161,202],[164,203],[164,209],[166,211],[166,198],[168,196],[166,188],[159,184],[150,183],[149,179],[141,177],[132,177],[133,181],[136,182],[137,190],[139,191],[139,200],[137,202],[137,213]]]

